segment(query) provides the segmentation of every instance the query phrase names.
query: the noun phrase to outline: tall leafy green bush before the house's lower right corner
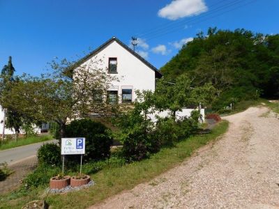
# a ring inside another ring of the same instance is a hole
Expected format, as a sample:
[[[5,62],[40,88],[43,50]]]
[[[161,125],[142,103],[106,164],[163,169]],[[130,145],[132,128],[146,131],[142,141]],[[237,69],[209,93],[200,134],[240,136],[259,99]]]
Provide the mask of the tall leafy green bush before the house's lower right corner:
[[[142,160],[159,149],[159,140],[154,137],[155,125],[149,114],[154,112],[151,91],[136,91],[134,108],[116,118],[119,127],[117,138],[123,144],[123,155],[128,160]]]

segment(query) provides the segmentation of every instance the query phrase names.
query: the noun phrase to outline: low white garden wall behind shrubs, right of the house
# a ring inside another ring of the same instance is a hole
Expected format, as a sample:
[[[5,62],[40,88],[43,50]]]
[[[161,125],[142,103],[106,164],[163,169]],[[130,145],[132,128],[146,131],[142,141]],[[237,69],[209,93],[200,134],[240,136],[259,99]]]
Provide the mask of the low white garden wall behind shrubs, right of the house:
[[[193,110],[197,110],[197,109],[187,109],[187,108],[182,108],[182,111],[177,111],[176,112],[176,120],[179,120],[179,118],[182,117],[190,117],[191,116],[191,112]],[[204,122],[204,109],[200,109],[200,114],[201,114],[201,118],[199,120],[199,123],[203,123]],[[153,121],[154,123],[157,122],[157,118],[156,116],[160,116],[161,118],[165,118],[167,116],[170,116],[170,111],[156,111],[153,114],[149,114],[149,118],[151,118],[151,121]]]

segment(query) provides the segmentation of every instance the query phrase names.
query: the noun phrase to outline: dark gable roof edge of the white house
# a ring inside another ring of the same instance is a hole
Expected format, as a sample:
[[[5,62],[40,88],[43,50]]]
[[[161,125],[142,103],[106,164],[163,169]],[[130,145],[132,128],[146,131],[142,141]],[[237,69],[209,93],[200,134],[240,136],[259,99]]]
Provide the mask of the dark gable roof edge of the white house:
[[[105,43],[103,43],[103,45],[100,45],[100,47],[98,47],[97,49],[93,50],[93,52],[90,52],[89,54],[87,54],[86,56],[84,56],[82,59],[80,59],[79,61],[75,62],[74,65],[71,66],[70,69],[68,70],[74,70],[75,68],[77,68],[78,66],[80,66],[82,63],[84,63],[86,60],[88,60],[91,56],[94,56],[96,54],[98,54],[98,52],[102,51],[105,47],[107,47],[107,45],[110,45],[112,42],[114,42],[114,40],[116,42],[119,43],[119,45],[121,45],[124,49],[126,49],[128,52],[130,52],[130,54],[133,54],[135,57],[137,57],[137,59],[140,59],[140,61],[142,61],[145,65],[147,65],[149,68],[151,68],[151,70],[155,71],[155,77],[156,78],[161,78],[163,77],[162,73],[153,65],[151,65],[151,63],[149,63],[148,61],[146,61],[145,59],[142,58],[142,56],[140,56],[139,54],[137,54],[137,52],[134,52],[133,49],[130,49],[130,47],[128,47],[126,44],[124,44],[123,42],[121,42],[121,40],[119,40],[118,38],[116,38],[115,36],[113,36],[112,38],[110,38],[110,40],[107,40]]]

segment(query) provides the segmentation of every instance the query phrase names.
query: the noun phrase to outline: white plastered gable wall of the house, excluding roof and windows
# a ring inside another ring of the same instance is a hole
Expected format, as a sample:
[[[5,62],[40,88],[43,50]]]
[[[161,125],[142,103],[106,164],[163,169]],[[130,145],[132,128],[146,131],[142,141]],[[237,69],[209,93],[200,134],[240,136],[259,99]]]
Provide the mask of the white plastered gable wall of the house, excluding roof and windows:
[[[133,90],[132,100],[135,100],[135,90],[155,90],[155,71],[137,59],[127,49],[119,45],[115,40],[101,50],[96,56],[84,62],[82,65],[90,65],[93,61],[101,59],[103,62],[99,68],[108,69],[109,58],[117,58],[117,74],[110,74],[119,81],[112,82],[112,88],[109,90],[117,90],[121,102],[122,88]]]

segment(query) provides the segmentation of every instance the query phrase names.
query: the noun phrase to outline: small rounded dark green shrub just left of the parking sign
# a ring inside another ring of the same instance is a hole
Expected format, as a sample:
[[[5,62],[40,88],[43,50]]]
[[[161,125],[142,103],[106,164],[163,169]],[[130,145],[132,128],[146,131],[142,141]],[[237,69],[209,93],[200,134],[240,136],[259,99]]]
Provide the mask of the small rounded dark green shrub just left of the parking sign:
[[[57,144],[43,144],[38,149],[38,161],[41,164],[61,164],[61,149]]]

